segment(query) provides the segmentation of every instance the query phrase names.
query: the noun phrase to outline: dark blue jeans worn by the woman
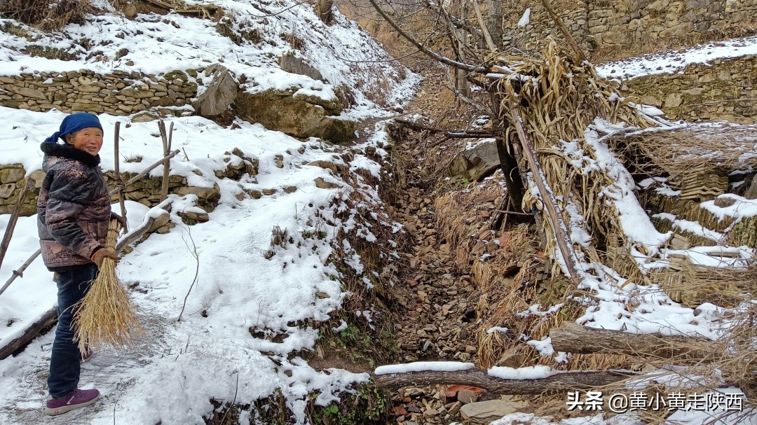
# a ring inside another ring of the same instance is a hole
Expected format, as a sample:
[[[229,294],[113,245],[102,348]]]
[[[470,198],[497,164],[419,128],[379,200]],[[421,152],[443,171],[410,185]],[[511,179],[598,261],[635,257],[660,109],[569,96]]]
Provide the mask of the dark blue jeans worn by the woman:
[[[48,389],[50,396],[58,398],[79,386],[81,355],[79,346],[73,342],[71,329],[73,305],[84,298],[92,281],[97,277],[97,265],[77,265],[68,271],[61,271],[58,278],[58,329],[50,355],[50,375]]]

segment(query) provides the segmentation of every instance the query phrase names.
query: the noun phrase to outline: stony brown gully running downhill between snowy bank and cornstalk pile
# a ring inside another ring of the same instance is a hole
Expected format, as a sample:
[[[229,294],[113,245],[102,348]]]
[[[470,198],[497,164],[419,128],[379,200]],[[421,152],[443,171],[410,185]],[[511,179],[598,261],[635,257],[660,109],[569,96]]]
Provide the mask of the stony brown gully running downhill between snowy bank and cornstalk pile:
[[[416,98],[404,115],[424,116],[439,113],[444,90],[438,73],[428,70]],[[411,244],[400,252],[407,267],[398,279],[397,302],[403,309],[395,312],[399,361],[474,361],[475,306],[478,291],[472,277],[460,274],[454,266],[453,253],[438,229],[435,198],[443,191],[447,160],[430,154],[422,138],[397,140],[394,155],[401,164],[400,185],[387,202],[394,221],[401,223]],[[450,151],[454,150],[450,144]],[[448,423],[460,420],[450,414],[454,400],[447,399],[444,386],[405,389],[394,395],[391,423]],[[457,406],[459,408],[459,405]],[[410,422],[406,422],[410,421]]]

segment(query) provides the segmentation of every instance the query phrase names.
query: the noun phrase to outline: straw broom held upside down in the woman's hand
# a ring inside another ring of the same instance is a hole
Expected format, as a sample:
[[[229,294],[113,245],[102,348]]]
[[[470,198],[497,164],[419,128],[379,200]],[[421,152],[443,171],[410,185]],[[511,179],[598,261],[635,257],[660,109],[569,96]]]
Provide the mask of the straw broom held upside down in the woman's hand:
[[[107,228],[106,246],[115,251],[120,225],[111,220]],[[97,278],[84,298],[73,306],[74,341],[79,343],[83,354],[87,349],[103,346],[131,346],[137,335],[143,332],[137,321],[123,284],[116,276],[113,259],[102,260]]]

